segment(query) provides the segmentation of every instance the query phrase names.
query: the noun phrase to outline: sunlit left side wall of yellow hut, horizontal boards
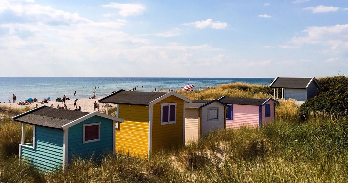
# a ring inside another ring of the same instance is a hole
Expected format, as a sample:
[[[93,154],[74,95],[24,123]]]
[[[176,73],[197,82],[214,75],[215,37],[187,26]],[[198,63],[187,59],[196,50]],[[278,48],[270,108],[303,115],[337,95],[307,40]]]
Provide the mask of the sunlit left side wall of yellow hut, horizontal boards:
[[[119,118],[124,119],[116,130],[116,153],[136,158],[148,157],[149,107],[119,104]]]

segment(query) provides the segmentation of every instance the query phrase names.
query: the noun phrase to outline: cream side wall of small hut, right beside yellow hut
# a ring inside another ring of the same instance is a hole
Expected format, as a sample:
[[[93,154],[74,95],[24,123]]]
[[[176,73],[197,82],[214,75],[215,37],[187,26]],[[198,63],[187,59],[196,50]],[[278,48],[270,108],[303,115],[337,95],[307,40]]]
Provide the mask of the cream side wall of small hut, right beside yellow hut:
[[[198,110],[188,109],[185,111],[185,142],[191,142],[198,138]]]

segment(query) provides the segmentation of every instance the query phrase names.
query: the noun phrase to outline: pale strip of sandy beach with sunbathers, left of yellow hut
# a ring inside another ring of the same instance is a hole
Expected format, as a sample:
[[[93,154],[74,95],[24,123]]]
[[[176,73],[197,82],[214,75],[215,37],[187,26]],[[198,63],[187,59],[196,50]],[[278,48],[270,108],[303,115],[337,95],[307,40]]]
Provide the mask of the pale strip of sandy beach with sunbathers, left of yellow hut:
[[[81,106],[81,111],[93,112],[94,111],[93,103],[95,101],[98,103],[99,99],[101,99],[101,97],[100,98],[95,98],[93,100],[88,99],[88,98],[78,99],[77,106]],[[18,103],[19,101],[16,101],[16,102]],[[41,105],[50,106],[51,104],[53,104],[54,108],[56,108],[58,104],[59,104],[59,106],[64,106],[64,104],[62,104],[62,102],[56,102],[56,101],[48,101],[48,103],[46,103],[46,104],[41,104],[39,102],[33,102],[33,103],[29,103],[29,105],[17,105],[17,103],[1,103],[0,105],[2,105],[2,106],[6,105],[6,106],[9,106],[9,107],[14,108],[14,109],[25,108],[25,106],[29,106],[29,107],[34,108],[35,104],[38,104],[38,106],[41,106]],[[70,100],[66,101],[65,104],[68,106],[69,110],[73,110],[73,108],[74,108],[74,100],[70,99]],[[99,111],[102,111],[102,109],[106,109],[106,108],[102,108],[102,105],[104,105],[103,103],[98,103],[98,104],[100,106],[99,107]],[[111,105],[114,106],[113,104],[111,104]]]

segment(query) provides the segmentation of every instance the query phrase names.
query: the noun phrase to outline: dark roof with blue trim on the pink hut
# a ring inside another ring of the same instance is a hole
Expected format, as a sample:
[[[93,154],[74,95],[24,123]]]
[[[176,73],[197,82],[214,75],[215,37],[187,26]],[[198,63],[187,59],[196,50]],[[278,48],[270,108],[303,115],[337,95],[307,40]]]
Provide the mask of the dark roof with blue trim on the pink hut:
[[[226,104],[239,104],[239,105],[264,105],[270,100],[274,101],[275,103],[278,103],[278,101],[274,100],[273,98],[262,99],[262,98],[237,98],[237,97],[223,96],[219,98],[218,100]]]

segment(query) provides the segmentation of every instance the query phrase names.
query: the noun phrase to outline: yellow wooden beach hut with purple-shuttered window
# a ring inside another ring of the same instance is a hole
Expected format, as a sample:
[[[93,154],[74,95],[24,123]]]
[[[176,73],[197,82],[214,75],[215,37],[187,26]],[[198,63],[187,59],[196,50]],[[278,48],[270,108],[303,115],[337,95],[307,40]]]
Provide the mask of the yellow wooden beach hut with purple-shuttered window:
[[[98,102],[116,104],[116,153],[150,158],[151,153],[185,143],[185,105],[192,101],[175,93],[116,91]]]

